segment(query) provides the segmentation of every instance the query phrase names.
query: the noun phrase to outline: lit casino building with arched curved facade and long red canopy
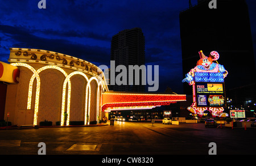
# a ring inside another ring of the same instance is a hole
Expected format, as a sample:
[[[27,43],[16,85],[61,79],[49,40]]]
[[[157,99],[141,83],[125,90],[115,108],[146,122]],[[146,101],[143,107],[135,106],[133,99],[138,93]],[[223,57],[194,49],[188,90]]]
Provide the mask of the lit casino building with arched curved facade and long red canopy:
[[[109,91],[104,72],[92,63],[40,49],[10,48],[0,62],[1,120],[12,125],[98,124],[115,109],[154,108],[185,101],[185,95]]]

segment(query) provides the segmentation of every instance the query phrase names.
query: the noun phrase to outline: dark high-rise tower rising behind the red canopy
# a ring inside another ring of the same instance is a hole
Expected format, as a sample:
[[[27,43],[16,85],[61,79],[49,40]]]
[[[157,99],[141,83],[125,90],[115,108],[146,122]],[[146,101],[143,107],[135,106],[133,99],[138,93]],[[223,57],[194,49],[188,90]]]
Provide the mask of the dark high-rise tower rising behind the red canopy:
[[[144,65],[145,64],[145,39],[141,28],[125,29],[112,37],[111,42],[111,61],[115,61],[115,67],[124,65],[127,69],[127,85],[109,86],[110,90],[114,91],[133,91],[143,92],[144,85],[141,80],[143,74],[140,73],[140,84],[135,85],[135,74],[133,74],[133,85],[129,85],[128,69],[129,65]],[[111,71],[110,71],[111,72]],[[115,77],[118,75],[115,72]]]

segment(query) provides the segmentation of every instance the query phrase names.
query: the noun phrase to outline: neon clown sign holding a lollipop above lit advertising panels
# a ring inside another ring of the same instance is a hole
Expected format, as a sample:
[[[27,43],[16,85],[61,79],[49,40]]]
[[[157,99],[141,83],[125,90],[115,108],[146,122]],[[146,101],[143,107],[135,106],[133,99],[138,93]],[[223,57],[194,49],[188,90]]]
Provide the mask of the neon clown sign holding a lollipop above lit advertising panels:
[[[187,109],[200,117],[205,110],[209,110],[213,117],[226,117],[228,114],[223,113],[226,107],[224,78],[228,71],[218,64],[217,59],[220,55],[216,51],[211,52],[209,57],[202,51],[199,55],[197,66],[182,80],[193,86],[193,103]]]

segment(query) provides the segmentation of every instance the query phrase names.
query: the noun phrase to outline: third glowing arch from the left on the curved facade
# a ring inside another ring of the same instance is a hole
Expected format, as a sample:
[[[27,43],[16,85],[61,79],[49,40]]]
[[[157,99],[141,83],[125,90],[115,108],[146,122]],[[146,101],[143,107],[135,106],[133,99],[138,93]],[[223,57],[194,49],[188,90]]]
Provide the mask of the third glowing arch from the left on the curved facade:
[[[71,81],[70,81],[70,78],[71,78],[71,76],[73,76],[73,75],[82,75],[82,76],[84,76],[84,78],[86,79],[87,84],[88,84],[88,82],[89,82],[88,77],[87,77],[84,73],[82,73],[82,72],[80,72],[80,71],[74,71],[74,72],[72,72],[71,74],[69,74],[69,75],[65,78],[64,83],[63,83],[63,97],[62,97],[62,107],[61,107],[61,126],[64,125],[65,93],[66,93],[65,88],[67,87],[67,83],[68,83],[68,101],[67,101],[67,114],[68,114],[68,116],[67,116],[67,126],[69,125],[70,100],[71,100]],[[86,92],[85,92],[85,93],[86,93],[86,95],[87,95],[87,93],[88,93],[87,88],[86,88]],[[86,103],[87,103],[87,97],[86,97],[86,100],[85,100],[85,105],[86,105]],[[85,110],[86,110],[86,107],[85,107]],[[86,111],[85,111],[85,112],[86,112]]]

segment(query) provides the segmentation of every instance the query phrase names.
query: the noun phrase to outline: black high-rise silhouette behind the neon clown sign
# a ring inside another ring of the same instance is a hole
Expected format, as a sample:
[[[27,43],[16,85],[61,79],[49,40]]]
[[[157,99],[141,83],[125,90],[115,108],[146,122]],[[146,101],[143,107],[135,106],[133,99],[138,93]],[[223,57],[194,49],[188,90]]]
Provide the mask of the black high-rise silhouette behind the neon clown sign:
[[[205,56],[215,50],[220,54],[218,63],[229,73],[225,78],[226,96],[237,99],[237,104],[255,102],[255,60],[246,1],[218,0],[214,9],[209,8],[209,2],[199,0],[180,12],[183,75],[196,66],[200,50]],[[184,84],[184,93],[191,95],[192,87]]]

